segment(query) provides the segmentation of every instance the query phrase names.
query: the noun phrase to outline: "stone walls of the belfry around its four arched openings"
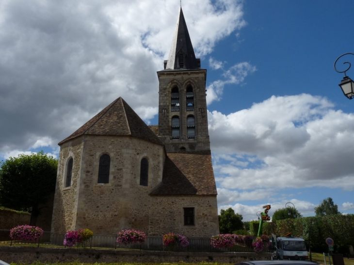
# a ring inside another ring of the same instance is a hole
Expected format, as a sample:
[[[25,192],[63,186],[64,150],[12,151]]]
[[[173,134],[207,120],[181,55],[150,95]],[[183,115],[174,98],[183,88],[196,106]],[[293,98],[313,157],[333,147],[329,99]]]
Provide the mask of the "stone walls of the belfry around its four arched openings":
[[[159,137],[166,152],[177,152],[180,147],[190,150],[209,150],[209,131],[206,101],[206,70],[158,72],[159,77]],[[186,89],[193,87],[194,111],[186,111]],[[179,111],[171,111],[171,90],[179,90]],[[194,115],[195,138],[187,137],[187,116]],[[180,137],[172,139],[172,116],[179,116]]]

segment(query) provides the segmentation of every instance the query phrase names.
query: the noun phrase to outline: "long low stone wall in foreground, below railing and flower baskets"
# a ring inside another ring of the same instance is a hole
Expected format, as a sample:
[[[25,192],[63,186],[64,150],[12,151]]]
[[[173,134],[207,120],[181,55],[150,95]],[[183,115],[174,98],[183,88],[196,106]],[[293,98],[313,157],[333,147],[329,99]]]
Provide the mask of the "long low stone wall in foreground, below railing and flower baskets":
[[[32,247],[0,247],[0,260],[7,263],[19,262],[70,262],[113,263],[113,262],[217,262],[239,263],[249,260],[270,260],[271,253],[246,252],[182,252],[108,249],[54,249]]]

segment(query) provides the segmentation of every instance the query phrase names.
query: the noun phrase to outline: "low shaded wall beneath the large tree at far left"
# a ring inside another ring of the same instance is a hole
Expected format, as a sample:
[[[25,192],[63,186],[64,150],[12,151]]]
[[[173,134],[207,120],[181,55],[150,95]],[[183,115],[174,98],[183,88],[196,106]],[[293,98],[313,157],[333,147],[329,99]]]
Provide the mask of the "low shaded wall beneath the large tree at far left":
[[[0,230],[10,230],[17,225],[29,224],[31,215],[10,209],[0,209]]]

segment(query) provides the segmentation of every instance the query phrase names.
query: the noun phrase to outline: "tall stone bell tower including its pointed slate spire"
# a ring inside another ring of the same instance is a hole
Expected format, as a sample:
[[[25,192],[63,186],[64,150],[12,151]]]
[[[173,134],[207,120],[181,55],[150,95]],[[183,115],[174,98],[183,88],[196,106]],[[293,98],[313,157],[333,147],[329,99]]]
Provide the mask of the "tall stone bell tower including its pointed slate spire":
[[[167,153],[210,150],[206,78],[195,58],[182,8],[159,78],[159,138]]]

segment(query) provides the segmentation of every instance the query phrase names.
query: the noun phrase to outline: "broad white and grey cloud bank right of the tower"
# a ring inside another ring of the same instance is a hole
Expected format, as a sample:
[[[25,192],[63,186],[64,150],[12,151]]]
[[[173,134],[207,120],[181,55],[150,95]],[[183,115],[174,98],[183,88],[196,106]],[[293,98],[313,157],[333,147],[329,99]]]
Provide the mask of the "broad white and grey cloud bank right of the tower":
[[[348,139],[354,134],[354,114],[332,107],[324,98],[301,94],[273,96],[229,115],[209,113],[219,187],[353,190],[354,146]]]

